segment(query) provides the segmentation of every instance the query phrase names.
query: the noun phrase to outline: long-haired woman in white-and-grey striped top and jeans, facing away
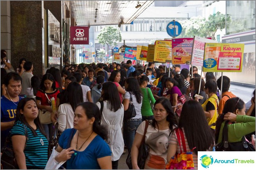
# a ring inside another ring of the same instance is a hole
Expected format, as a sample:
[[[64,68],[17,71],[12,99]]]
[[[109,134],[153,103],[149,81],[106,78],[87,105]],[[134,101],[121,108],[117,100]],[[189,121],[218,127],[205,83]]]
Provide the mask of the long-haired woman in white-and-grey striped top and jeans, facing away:
[[[113,71],[114,72],[114,71]],[[141,106],[142,106],[142,92],[139,86],[139,82],[134,77],[128,77],[124,82],[126,93],[124,94],[124,110],[127,110],[130,103],[133,103],[136,116],[130,119],[124,120],[124,143],[127,146],[128,151],[132,148],[135,132],[142,122]],[[132,101],[131,101],[132,99]]]

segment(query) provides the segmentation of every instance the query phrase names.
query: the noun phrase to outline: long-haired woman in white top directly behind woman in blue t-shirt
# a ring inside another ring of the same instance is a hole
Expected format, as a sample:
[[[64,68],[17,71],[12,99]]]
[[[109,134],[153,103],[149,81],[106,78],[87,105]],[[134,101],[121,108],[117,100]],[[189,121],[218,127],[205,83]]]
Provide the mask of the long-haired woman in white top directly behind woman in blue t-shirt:
[[[74,112],[78,104],[83,102],[82,87],[77,82],[68,85],[63,96],[63,103],[60,103],[58,109],[58,130],[63,132],[65,129],[73,128]],[[56,122],[56,121],[55,121]],[[55,122],[53,122],[55,124]]]

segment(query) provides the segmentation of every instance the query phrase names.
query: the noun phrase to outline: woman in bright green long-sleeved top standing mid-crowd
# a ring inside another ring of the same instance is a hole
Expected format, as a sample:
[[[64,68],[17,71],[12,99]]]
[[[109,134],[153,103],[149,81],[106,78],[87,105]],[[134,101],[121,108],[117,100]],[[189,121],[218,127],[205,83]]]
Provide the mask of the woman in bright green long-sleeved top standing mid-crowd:
[[[156,100],[150,88],[146,87],[148,85],[149,78],[144,75],[138,78],[138,80],[143,96],[141,106],[142,122],[145,120],[152,120],[154,118],[152,111],[154,108],[152,108],[151,105],[153,106]]]

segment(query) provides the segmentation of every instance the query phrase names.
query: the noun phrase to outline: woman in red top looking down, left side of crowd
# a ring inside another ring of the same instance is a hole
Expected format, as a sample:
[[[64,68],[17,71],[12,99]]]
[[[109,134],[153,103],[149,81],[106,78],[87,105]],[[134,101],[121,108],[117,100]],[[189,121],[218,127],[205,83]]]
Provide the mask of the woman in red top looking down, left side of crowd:
[[[56,104],[56,98],[59,93],[60,91],[57,90],[55,87],[55,81],[52,74],[46,73],[42,78],[40,90],[37,91],[36,94],[37,108],[42,110],[45,109],[52,112],[52,107],[50,102],[48,102],[47,97],[49,98],[49,100],[51,100],[51,98],[54,98]],[[47,95],[47,97],[45,94]],[[51,135],[53,133],[53,123],[43,124],[42,126],[46,133],[47,140],[51,140]]]

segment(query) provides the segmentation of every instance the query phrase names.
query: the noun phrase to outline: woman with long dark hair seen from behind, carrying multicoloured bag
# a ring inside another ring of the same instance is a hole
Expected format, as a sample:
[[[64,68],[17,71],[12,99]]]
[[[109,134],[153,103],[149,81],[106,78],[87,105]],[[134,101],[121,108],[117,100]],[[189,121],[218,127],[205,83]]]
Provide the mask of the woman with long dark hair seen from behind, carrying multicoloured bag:
[[[208,126],[200,103],[189,100],[183,104],[178,128],[180,133],[184,135],[187,152],[193,151],[194,168],[197,169],[197,152],[212,151],[214,146],[214,134]],[[181,143],[181,140],[178,141],[177,134],[174,131],[169,139],[167,161],[170,161],[176,152],[181,153],[178,142]],[[184,151],[183,145],[181,147]]]

